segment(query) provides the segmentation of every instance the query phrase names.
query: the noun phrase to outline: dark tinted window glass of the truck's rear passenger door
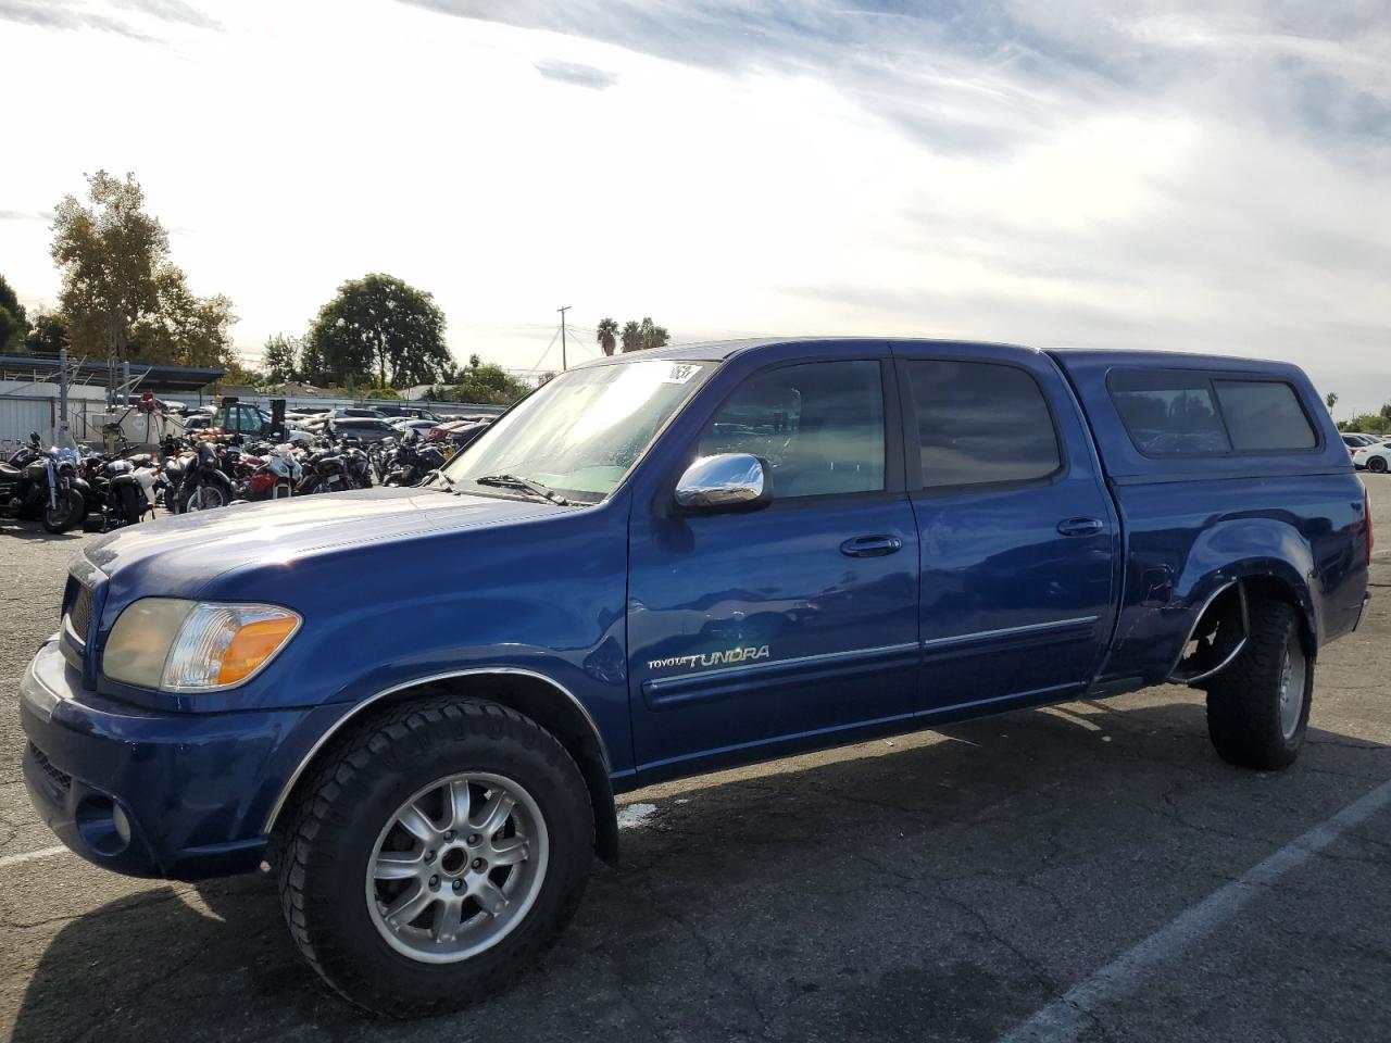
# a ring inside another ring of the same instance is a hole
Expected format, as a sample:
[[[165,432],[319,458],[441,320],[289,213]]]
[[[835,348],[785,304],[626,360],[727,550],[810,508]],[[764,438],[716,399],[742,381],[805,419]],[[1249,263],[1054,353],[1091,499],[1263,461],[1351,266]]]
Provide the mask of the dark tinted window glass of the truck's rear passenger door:
[[[1061,466],[1038,381],[1014,366],[910,362],[922,487],[1046,478]]]

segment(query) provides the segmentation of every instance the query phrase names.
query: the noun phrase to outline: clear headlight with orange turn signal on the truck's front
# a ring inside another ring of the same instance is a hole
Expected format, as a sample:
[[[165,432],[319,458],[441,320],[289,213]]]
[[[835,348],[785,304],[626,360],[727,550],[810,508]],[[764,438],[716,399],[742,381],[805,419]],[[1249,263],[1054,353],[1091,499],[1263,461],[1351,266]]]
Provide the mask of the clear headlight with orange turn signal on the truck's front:
[[[299,623],[277,605],[140,598],[111,627],[102,672],[163,691],[231,688],[275,658]]]

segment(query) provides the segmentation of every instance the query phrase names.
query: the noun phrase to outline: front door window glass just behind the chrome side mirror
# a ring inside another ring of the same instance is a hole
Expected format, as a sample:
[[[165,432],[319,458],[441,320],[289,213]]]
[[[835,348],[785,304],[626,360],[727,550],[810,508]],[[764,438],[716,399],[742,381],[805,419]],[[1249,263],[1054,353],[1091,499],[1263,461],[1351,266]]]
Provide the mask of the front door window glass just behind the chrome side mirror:
[[[773,496],[883,488],[883,381],[878,362],[817,362],[751,377],[700,439],[700,455],[768,460]]]

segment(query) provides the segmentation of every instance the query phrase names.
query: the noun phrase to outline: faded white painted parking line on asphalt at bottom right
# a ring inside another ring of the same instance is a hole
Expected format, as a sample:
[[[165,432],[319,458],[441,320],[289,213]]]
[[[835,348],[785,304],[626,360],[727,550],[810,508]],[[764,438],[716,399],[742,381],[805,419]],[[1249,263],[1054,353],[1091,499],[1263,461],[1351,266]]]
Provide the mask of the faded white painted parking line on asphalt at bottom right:
[[[999,1043],[1067,1043],[1079,1039],[1093,1028],[1091,1015],[1102,1004],[1129,996],[1155,967],[1207,937],[1264,887],[1331,847],[1340,836],[1387,805],[1391,805],[1391,782],[1381,783],[1196,905],[1189,905],[1134,948],[1068,989],[1013,1032],[1000,1036]]]

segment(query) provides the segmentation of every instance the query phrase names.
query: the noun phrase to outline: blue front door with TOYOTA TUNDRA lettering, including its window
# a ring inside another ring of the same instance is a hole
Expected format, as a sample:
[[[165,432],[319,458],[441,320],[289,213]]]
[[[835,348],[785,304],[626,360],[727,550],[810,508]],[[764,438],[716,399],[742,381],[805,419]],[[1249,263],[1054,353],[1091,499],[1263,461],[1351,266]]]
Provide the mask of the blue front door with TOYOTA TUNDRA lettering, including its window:
[[[912,713],[917,528],[886,388],[886,352],[754,373],[687,459],[761,456],[772,503],[701,516],[634,505],[629,679],[640,777]]]

